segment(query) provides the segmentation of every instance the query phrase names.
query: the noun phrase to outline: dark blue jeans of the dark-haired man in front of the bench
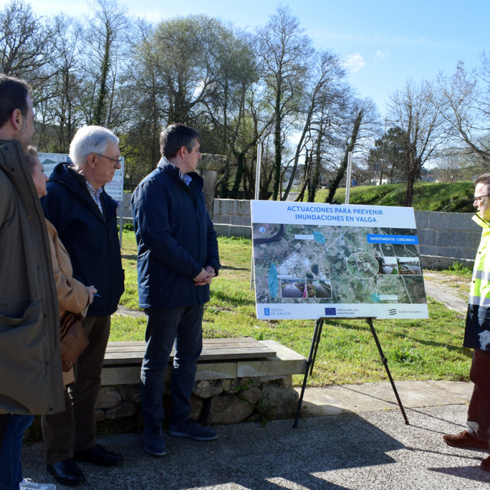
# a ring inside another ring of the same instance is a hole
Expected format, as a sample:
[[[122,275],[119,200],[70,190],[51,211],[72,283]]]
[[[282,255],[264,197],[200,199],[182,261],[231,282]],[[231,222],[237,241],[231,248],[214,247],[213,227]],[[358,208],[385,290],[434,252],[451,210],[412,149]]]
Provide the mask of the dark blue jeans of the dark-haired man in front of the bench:
[[[161,427],[164,419],[163,377],[175,348],[171,392],[173,422],[182,424],[191,413],[197,360],[202,350],[204,305],[147,308],[146,351],[141,366],[141,415],[145,426]]]

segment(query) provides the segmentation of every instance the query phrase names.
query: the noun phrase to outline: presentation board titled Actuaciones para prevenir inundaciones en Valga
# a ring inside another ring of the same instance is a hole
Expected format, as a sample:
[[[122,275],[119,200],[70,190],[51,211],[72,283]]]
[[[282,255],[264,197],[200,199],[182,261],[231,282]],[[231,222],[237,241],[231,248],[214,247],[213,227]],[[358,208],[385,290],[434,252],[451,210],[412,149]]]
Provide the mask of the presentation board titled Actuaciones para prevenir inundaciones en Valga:
[[[413,208],[251,201],[259,319],[429,318]]]

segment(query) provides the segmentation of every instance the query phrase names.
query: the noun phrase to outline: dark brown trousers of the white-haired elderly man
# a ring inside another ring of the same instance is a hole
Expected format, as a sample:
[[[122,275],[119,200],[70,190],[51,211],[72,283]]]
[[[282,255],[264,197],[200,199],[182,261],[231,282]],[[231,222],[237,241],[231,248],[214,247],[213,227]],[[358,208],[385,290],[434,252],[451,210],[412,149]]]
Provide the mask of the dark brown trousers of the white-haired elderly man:
[[[97,444],[95,439],[95,400],[109,339],[110,316],[85,317],[83,328],[88,347],[73,366],[75,382],[65,390],[65,410],[42,417],[42,436],[46,463],[73,457]]]

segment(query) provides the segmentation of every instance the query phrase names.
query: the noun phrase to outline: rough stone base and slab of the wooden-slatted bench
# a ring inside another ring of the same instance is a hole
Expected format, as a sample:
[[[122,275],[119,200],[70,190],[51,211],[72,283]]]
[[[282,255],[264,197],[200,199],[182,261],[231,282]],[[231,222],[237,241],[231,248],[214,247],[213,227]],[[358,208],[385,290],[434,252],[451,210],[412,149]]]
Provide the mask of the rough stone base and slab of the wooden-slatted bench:
[[[205,361],[197,365],[192,417],[204,424],[236,424],[296,415],[298,394],[292,375],[303,374],[306,359],[272,340],[260,341],[276,353],[264,359]],[[170,413],[171,367],[164,377],[164,409]],[[139,418],[141,364],[107,364],[96,402],[97,420]]]

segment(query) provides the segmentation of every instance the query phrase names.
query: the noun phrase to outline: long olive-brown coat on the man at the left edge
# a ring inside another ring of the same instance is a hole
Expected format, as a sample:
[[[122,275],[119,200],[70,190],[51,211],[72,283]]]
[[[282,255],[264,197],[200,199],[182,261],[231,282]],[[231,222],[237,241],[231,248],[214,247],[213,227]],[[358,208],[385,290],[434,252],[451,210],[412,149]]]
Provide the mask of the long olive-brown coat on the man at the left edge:
[[[18,141],[0,141],[0,414],[64,410],[50,245]]]

